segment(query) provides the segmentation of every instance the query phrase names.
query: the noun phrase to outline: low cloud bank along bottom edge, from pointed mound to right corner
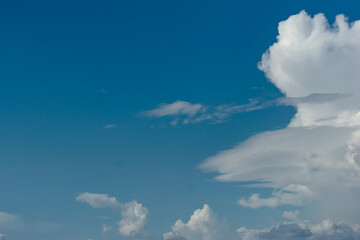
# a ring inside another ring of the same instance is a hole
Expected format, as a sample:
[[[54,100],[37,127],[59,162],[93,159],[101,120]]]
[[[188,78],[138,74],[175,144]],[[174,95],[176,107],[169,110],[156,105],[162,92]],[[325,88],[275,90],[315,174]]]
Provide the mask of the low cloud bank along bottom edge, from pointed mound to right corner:
[[[288,212],[290,214],[290,212]],[[291,215],[291,214],[290,214]],[[297,217],[298,212],[292,212]],[[205,204],[196,210],[187,223],[178,220],[172,232],[163,235],[164,240],[358,240],[360,226],[334,223],[329,219],[319,224],[310,222],[283,222],[265,229],[231,229],[226,220],[219,219]]]

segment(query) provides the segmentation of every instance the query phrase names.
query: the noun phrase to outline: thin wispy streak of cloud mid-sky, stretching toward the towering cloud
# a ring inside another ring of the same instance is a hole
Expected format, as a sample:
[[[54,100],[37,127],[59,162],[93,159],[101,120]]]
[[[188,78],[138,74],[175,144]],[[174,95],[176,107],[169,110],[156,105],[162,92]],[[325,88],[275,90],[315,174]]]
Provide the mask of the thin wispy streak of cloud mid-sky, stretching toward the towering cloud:
[[[266,103],[277,104],[277,103]],[[288,104],[288,103],[281,103]],[[240,112],[254,111],[263,108],[259,100],[249,99],[248,104],[235,105],[223,104],[219,106],[204,106],[202,104],[193,104],[185,101],[176,101],[170,104],[162,104],[160,107],[143,112],[143,115],[148,117],[175,117],[170,124],[176,126],[177,124],[193,124],[203,121],[210,121],[212,123],[219,123],[230,117],[232,114]]]

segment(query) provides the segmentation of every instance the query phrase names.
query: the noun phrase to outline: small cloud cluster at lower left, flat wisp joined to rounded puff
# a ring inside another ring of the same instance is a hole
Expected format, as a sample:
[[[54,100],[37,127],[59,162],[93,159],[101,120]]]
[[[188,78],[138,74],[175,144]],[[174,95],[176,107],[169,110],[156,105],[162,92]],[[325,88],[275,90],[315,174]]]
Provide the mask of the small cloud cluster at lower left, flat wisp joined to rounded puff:
[[[144,234],[143,230],[147,223],[149,211],[141,203],[131,201],[128,203],[120,203],[115,197],[110,197],[108,194],[99,193],[81,193],[76,198],[76,201],[89,204],[93,208],[108,208],[121,211],[121,220],[118,224],[118,231],[121,235],[138,238]],[[112,227],[103,225],[104,233],[111,231]]]

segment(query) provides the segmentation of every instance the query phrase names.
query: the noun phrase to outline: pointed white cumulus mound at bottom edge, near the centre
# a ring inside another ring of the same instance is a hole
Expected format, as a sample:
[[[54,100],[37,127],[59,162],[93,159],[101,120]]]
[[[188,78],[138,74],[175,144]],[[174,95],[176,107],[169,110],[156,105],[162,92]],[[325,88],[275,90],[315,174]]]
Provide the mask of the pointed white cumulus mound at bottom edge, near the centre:
[[[176,221],[172,232],[163,235],[164,240],[219,240],[236,239],[235,231],[231,230],[225,219],[220,219],[205,204],[190,217],[187,223]]]

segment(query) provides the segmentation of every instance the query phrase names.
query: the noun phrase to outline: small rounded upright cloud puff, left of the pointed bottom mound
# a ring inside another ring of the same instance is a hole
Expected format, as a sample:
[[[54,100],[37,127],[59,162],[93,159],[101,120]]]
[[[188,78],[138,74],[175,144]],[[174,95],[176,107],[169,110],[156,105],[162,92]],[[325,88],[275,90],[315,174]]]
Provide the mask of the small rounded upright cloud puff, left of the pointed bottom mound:
[[[147,222],[148,215],[149,210],[141,203],[132,201],[122,204],[122,219],[118,223],[119,233],[128,237],[137,237],[142,233],[143,228]]]

